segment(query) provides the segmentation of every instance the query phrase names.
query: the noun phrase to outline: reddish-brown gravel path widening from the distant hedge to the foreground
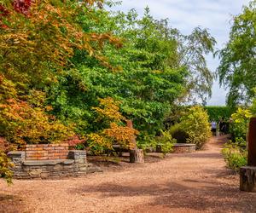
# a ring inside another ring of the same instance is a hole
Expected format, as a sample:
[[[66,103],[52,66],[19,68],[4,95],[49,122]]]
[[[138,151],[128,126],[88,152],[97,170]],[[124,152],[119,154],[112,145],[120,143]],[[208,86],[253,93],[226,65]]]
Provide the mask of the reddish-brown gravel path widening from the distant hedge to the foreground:
[[[11,187],[0,181],[0,212],[256,212],[256,193],[240,192],[239,177],[225,169],[224,140],[125,170]]]

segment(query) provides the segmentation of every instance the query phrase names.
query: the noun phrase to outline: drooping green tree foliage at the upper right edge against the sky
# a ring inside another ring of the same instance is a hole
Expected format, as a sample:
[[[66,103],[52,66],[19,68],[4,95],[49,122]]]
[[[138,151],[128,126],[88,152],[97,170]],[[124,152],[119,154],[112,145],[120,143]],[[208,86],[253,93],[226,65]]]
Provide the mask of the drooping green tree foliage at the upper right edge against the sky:
[[[256,1],[244,7],[233,19],[230,41],[219,51],[220,83],[230,89],[227,103],[236,107],[238,103],[250,102],[255,87],[256,47]]]

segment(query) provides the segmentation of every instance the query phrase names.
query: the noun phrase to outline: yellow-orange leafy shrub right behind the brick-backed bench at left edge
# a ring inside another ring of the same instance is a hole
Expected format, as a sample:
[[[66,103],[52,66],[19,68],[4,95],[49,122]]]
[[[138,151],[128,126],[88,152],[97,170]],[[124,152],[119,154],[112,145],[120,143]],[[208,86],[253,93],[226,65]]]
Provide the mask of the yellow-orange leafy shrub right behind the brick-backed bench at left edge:
[[[64,141],[73,136],[73,127],[65,126],[45,113],[51,107],[32,107],[26,101],[8,100],[0,105],[0,126],[9,141],[24,144]]]

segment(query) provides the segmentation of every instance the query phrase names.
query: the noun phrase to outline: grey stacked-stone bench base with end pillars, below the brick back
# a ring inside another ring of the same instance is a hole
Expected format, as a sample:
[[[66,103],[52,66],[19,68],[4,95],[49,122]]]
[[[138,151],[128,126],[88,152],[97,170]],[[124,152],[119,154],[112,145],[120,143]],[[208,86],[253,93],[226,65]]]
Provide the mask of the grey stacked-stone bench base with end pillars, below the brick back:
[[[27,150],[26,152],[28,151],[31,150]],[[67,158],[62,156],[62,158],[46,160],[38,159],[39,157],[37,157],[36,160],[32,160],[32,157],[26,158],[26,152],[8,153],[9,158],[11,158],[15,164],[12,170],[14,172],[14,178],[16,179],[84,176],[92,172],[102,171],[101,168],[87,163],[85,151],[68,151]]]

